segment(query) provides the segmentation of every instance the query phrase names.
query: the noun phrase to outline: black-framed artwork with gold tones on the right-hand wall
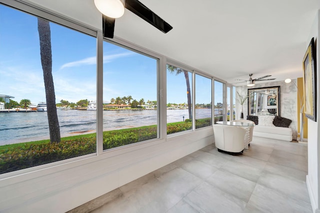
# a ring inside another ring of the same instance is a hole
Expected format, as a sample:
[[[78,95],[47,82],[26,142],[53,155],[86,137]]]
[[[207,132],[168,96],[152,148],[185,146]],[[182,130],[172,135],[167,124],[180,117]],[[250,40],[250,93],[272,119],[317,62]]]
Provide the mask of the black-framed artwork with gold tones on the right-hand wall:
[[[303,106],[305,117],[316,121],[315,49],[312,38],[303,57]]]

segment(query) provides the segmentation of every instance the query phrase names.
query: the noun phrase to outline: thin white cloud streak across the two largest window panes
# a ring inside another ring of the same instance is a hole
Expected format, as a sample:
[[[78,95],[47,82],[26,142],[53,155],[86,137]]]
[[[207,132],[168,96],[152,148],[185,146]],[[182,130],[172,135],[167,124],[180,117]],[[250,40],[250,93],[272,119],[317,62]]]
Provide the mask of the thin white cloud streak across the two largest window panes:
[[[135,52],[123,52],[123,53],[118,53],[118,54],[112,54],[112,55],[103,55],[103,63],[109,63],[114,59],[121,58],[121,57],[126,57],[129,55],[133,55]],[[69,63],[65,63],[60,67],[60,70],[65,68],[65,67],[75,67],[75,66],[81,66],[81,65],[92,65],[96,63],[96,57],[88,57],[84,58],[78,61],[73,61]]]

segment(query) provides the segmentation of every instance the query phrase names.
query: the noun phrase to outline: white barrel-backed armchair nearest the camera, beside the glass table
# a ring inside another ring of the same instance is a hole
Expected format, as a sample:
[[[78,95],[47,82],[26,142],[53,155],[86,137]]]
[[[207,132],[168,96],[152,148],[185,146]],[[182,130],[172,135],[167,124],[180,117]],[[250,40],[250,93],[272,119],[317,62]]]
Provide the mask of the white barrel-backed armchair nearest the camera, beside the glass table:
[[[236,126],[214,124],[214,143],[219,152],[241,154],[244,149],[246,130]]]

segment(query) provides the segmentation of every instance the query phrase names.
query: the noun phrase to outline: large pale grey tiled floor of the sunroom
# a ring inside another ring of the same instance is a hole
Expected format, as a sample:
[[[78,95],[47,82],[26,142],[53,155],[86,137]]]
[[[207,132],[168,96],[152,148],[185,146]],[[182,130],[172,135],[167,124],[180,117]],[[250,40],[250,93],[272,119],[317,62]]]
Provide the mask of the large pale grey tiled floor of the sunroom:
[[[307,145],[253,138],[243,155],[209,145],[118,189],[91,213],[311,213]]]

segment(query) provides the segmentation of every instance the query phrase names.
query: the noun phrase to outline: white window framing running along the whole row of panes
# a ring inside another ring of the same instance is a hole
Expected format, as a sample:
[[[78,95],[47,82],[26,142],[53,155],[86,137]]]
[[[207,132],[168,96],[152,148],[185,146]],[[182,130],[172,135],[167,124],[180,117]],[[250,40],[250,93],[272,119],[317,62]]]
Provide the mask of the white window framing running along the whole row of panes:
[[[88,162],[94,162],[98,161],[99,159],[109,158],[113,156],[118,156],[124,153],[128,153],[134,150],[143,149],[145,147],[154,146],[160,143],[164,143],[166,141],[171,140],[170,138],[185,135],[194,131],[201,131],[205,128],[210,128],[214,124],[214,80],[217,80],[219,82],[224,83],[226,85],[226,82],[215,78],[214,76],[208,75],[204,72],[201,72],[199,70],[193,69],[190,66],[187,66],[185,64],[179,63],[173,59],[167,58],[164,55],[158,54],[156,52],[153,52],[151,50],[148,50],[146,48],[143,48],[141,46],[138,46],[137,44],[133,44],[131,42],[125,41],[123,39],[114,37],[113,39],[107,39],[103,38],[102,31],[99,29],[96,29],[94,27],[88,26],[84,23],[81,23],[79,21],[73,20],[67,16],[56,14],[53,11],[49,11],[47,8],[42,8],[40,6],[34,5],[33,3],[27,3],[19,0],[1,0],[0,4],[4,6],[11,7],[13,9],[17,9],[21,12],[26,12],[30,15],[40,17],[43,19],[46,19],[52,23],[73,29],[75,31],[78,31],[80,33],[87,34],[89,36],[93,36],[96,38],[96,103],[97,106],[102,106],[103,101],[103,41],[107,40],[107,42],[117,43],[121,47],[127,47],[132,51],[138,52],[140,54],[144,54],[146,56],[151,56],[155,59],[157,59],[157,138],[151,139],[148,141],[142,141],[135,144],[130,144],[122,147],[117,147],[114,149],[103,151],[102,144],[103,144],[103,117],[101,116],[103,113],[103,109],[101,107],[97,107],[96,111],[96,152],[78,156],[70,159],[55,161],[52,163],[47,163],[39,166],[34,166],[26,169],[16,170],[9,173],[4,173],[0,175],[0,179],[3,178],[9,178],[13,176],[18,176],[21,174],[28,173],[29,177],[36,177],[37,173],[33,173],[35,171],[43,171],[41,174],[47,174],[51,170],[46,170],[51,167],[55,166],[62,166],[66,165],[68,163],[73,163],[74,165],[81,165],[81,160],[87,159]],[[166,134],[166,124],[167,124],[167,118],[166,118],[166,64],[170,64],[176,67],[179,67],[181,69],[184,69],[188,72],[192,73],[192,129],[170,134],[169,136]],[[201,75],[203,77],[207,77],[211,79],[211,103],[212,103],[212,122],[211,126],[195,129],[195,74]],[[225,89],[224,89],[225,90]],[[223,92],[223,104],[226,106],[225,102],[225,92]],[[226,113],[224,113],[225,115]],[[94,157],[94,158],[93,158]]]

